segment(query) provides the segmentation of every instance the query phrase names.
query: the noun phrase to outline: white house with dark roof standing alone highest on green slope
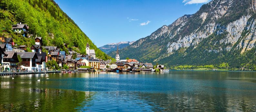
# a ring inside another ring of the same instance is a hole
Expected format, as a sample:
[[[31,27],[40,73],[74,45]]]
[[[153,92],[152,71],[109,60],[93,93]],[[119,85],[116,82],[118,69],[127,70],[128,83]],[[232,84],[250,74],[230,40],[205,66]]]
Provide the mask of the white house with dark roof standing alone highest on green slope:
[[[23,33],[22,36],[27,37],[27,33],[28,33],[28,25],[27,24],[17,23],[15,25],[12,25],[12,29],[14,32]]]

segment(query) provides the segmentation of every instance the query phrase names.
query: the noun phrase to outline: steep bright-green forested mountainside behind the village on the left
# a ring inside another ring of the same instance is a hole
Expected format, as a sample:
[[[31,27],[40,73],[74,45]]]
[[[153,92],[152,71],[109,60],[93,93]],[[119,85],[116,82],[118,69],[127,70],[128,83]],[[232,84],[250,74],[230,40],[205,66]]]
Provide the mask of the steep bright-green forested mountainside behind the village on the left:
[[[86,43],[96,52],[96,57],[110,59],[100,51],[75,22],[64,13],[53,0],[0,0],[0,35],[12,37],[15,44],[30,47],[34,44],[34,37],[41,36],[43,45],[55,45],[61,50],[63,43],[68,44],[76,52],[85,54]],[[28,24],[29,34],[33,38],[26,38],[12,31],[16,23]],[[54,39],[49,36],[54,34]],[[30,49],[28,48],[28,51]]]

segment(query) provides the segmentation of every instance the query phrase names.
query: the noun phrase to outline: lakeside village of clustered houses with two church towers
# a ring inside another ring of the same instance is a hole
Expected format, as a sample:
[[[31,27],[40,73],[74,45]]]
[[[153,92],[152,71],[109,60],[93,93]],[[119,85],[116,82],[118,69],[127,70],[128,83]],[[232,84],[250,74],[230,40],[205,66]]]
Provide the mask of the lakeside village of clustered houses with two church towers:
[[[28,37],[28,25],[17,23],[12,25],[16,33]],[[54,34],[49,33],[54,38]],[[31,38],[32,35],[29,35]],[[11,37],[0,36],[0,71],[1,72],[44,72],[52,71],[52,67],[47,67],[48,61],[55,61],[57,66],[64,73],[72,72],[164,72],[164,65],[139,62],[136,59],[120,60],[118,47],[115,60],[102,60],[96,57],[94,49],[86,44],[86,54],[79,54],[67,48],[68,52],[61,51],[57,46],[42,46],[43,38],[34,37],[34,45],[17,45]],[[30,47],[32,52],[27,52]],[[47,52],[42,52],[45,49]],[[20,59],[19,59],[20,58]],[[19,64],[18,64],[19,63]],[[54,65],[55,66],[55,65]],[[55,68],[55,67],[54,67]],[[169,71],[169,70],[168,70]]]

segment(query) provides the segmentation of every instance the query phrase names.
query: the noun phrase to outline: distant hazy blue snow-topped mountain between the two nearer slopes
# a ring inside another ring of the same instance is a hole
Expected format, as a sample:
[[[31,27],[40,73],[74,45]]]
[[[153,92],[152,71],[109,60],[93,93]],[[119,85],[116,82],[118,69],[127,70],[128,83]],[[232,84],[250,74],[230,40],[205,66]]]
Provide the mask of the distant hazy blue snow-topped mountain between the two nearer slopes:
[[[101,47],[99,47],[99,49],[105,53],[109,53],[109,52],[113,52],[116,51],[117,49],[117,45],[118,45],[118,49],[123,49],[126,46],[129,46],[131,44],[133,44],[135,41],[129,42],[129,41],[125,41],[125,42],[119,42],[119,43],[111,43],[111,44],[107,44],[107,45],[103,45]]]

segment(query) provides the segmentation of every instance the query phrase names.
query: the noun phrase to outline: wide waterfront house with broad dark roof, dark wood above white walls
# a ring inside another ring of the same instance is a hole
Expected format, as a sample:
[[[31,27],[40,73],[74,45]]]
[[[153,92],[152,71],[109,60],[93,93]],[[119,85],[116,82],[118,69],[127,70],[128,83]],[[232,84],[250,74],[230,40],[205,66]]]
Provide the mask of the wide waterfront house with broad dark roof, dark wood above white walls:
[[[25,70],[36,70],[36,52],[17,52],[17,55],[20,55]]]

